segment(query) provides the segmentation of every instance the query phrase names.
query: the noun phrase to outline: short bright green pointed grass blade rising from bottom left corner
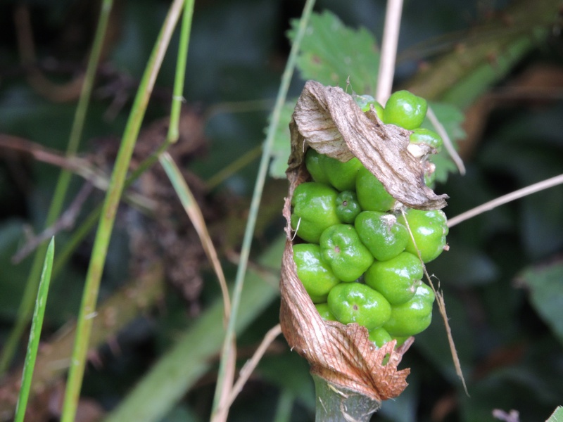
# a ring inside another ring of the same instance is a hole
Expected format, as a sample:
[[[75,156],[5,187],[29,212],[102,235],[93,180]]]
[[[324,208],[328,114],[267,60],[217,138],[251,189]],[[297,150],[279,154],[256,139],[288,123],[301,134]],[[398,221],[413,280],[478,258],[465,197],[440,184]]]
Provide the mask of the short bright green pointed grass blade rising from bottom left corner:
[[[39,281],[39,292],[37,293],[37,301],[35,303],[35,311],[31,323],[30,341],[27,344],[27,354],[25,354],[25,364],[23,366],[22,386],[20,388],[18,404],[15,405],[15,422],[23,422],[25,409],[27,408],[27,399],[30,397],[33,369],[35,367],[35,359],[37,359],[37,350],[39,350],[39,339],[41,338],[43,317],[45,316],[47,295],[49,294],[49,284],[51,283],[51,269],[53,269],[54,254],[55,238],[53,237],[47,247],[41,280]]]

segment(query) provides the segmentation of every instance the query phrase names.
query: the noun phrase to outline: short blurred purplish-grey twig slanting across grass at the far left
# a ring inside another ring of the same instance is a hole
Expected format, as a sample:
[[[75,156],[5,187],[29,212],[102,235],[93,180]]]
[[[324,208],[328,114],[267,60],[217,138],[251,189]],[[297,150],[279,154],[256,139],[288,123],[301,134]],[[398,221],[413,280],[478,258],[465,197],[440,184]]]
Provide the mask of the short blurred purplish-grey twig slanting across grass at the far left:
[[[16,252],[12,257],[13,264],[19,264],[27,255],[30,255],[39,245],[41,245],[44,241],[48,240],[49,238],[58,234],[58,232],[63,230],[72,229],[72,226],[75,225],[76,217],[80,210],[82,209],[82,205],[84,205],[84,201],[87,200],[88,196],[94,189],[90,183],[84,184],[80,191],[78,192],[76,198],[72,201],[68,210],[64,212],[58,221],[53,224],[52,226],[47,227],[41,234],[34,236],[28,239],[27,243]]]

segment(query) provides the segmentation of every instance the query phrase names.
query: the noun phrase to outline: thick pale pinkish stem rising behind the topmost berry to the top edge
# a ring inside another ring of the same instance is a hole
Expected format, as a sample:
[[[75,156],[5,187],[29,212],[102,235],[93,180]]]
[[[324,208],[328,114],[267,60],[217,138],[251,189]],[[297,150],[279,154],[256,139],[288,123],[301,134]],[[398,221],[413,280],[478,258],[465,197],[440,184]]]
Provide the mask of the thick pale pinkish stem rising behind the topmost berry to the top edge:
[[[403,0],[388,0],[385,13],[385,27],[383,41],[381,41],[381,60],[379,60],[379,75],[377,76],[377,101],[384,105],[391,95],[393,75],[395,74],[395,59],[399,40],[400,15],[403,11]]]

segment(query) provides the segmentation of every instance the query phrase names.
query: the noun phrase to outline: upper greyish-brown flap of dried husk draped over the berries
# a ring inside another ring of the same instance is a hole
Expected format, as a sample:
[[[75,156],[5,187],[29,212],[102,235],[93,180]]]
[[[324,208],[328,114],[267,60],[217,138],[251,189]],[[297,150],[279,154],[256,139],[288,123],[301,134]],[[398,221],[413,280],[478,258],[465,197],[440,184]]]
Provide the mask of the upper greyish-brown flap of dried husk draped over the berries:
[[[407,146],[410,132],[383,124],[376,113],[363,113],[354,98],[339,87],[308,81],[297,101],[290,124],[289,172],[303,163],[305,149],[341,161],[358,157],[407,207],[436,210],[445,207],[447,195],[436,195],[424,184],[424,168]]]

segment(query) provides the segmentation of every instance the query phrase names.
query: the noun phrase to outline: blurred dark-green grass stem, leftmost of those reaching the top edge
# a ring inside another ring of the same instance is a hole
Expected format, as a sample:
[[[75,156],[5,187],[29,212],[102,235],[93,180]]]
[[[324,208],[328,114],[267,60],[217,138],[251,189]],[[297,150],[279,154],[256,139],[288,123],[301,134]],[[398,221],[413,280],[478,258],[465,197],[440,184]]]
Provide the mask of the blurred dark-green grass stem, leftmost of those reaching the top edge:
[[[100,18],[96,27],[96,33],[94,34],[94,42],[88,59],[86,74],[84,75],[84,84],[82,85],[82,91],[80,92],[75,118],[72,122],[72,129],[70,130],[70,139],[68,141],[66,151],[67,156],[75,155],[78,151],[78,146],[80,145],[80,138],[82,138],[82,130],[84,129],[84,120],[86,119],[88,103],[90,102],[91,91],[94,86],[94,77],[96,76],[96,69],[98,68],[100,60],[103,39],[106,37],[106,28],[108,27],[108,20],[112,6],[113,0],[103,0],[101,4]],[[68,172],[68,170],[61,170],[55,192],[53,193],[53,200],[51,201],[49,211],[47,212],[45,221],[46,227],[52,226],[58,219],[58,216],[61,215],[71,176],[72,173]],[[20,343],[23,331],[25,331],[25,327],[29,324],[33,309],[34,292],[37,291],[39,271],[41,271],[41,264],[43,257],[46,254],[46,250],[47,243],[44,242],[37,249],[37,252],[34,255],[30,275],[25,283],[25,290],[18,309],[18,315],[16,316],[14,327],[12,328],[8,340],[6,340],[4,351],[2,352],[2,356],[0,358],[0,374],[6,371],[6,368],[13,359],[13,355],[18,347],[18,343]]]

